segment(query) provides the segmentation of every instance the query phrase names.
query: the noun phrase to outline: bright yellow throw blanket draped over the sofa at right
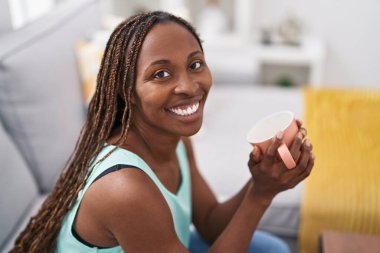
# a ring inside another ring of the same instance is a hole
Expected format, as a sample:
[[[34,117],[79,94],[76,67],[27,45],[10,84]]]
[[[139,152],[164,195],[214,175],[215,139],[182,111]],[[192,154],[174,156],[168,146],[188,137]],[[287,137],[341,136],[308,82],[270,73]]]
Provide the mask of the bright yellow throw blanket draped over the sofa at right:
[[[380,234],[380,90],[305,89],[316,156],[301,206],[300,253],[323,230]]]

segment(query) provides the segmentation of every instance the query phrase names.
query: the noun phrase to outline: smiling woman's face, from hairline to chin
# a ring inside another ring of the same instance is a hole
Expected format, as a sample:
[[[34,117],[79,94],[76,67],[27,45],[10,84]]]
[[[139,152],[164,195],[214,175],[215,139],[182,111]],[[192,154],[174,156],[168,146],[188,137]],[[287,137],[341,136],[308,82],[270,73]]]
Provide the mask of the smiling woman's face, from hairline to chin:
[[[137,61],[133,124],[154,134],[195,134],[211,83],[196,38],[174,22],[155,25]]]

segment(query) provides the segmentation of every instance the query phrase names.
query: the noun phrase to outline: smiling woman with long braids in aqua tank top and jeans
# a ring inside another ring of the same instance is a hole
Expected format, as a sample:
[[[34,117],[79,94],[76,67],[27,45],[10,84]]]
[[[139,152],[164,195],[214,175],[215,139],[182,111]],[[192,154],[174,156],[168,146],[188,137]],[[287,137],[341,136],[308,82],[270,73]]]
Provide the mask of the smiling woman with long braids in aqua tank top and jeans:
[[[201,127],[211,83],[186,21],[151,12],[121,23],[74,153],[12,252],[288,252],[268,234],[251,239],[273,197],[310,174],[311,145],[300,131],[297,167],[287,170],[275,158],[279,133],[265,154],[251,153],[254,183],[218,203],[188,138]],[[191,222],[203,239],[190,235]]]

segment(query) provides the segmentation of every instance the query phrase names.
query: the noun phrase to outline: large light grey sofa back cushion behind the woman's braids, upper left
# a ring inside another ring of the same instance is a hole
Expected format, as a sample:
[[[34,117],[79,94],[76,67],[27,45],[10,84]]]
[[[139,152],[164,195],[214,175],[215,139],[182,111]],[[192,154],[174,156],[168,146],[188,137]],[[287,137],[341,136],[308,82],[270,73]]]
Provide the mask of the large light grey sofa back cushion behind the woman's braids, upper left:
[[[74,46],[98,24],[97,1],[69,1],[0,40],[0,116],[43,192],[83,124]]]

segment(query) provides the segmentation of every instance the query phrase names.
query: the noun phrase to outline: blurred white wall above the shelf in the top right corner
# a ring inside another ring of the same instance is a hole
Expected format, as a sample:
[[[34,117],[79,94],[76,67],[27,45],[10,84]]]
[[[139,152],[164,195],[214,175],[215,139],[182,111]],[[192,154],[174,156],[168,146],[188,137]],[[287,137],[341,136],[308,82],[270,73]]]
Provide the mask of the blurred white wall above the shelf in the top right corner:
[[[380,88],[380,0],[255,0],[252,22],[277,23],[287,12],[325,40],[325,83]]]

